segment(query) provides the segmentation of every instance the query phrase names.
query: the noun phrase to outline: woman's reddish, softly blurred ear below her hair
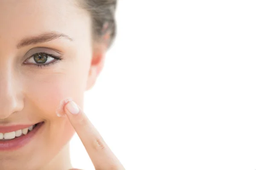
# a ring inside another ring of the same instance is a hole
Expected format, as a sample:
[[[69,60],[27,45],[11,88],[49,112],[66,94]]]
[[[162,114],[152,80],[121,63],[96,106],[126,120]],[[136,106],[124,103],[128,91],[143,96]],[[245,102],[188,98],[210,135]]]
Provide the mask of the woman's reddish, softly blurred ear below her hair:
[[[105,54],[108,50],[108,42],[110,34],[107,32],[103,37],[102,42],[93,45],[93,55],[90,64],[89,74],[85,91],[90,90],[96,82],[102,68],[104,66]]]

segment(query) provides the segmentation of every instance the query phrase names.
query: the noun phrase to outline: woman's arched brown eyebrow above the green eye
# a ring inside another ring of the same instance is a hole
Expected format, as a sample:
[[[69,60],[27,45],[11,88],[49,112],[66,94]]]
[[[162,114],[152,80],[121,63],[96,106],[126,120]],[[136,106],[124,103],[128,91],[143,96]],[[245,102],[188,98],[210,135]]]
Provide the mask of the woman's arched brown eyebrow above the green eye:
[[[70,38],[66,34],[51,31],[51,32],[45,32],[38,36],[23,38],[20,41],[20,43],[17,44],[17,48],[22,48],[26,45],[31,45],[31,44],[39,44],[39,43],[43,43],[43,42],[48,42],[48,41],[55,40],[58,38],[65,38],[67,40],[73,41],[73,38]]]

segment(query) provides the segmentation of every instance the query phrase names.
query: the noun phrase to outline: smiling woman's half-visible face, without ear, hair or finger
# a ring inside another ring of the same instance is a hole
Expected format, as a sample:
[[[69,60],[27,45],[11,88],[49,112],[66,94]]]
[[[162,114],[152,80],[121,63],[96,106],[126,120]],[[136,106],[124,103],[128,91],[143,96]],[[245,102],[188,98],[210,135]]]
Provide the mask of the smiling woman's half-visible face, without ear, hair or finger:
[[[42,167],[73,136],[55,111],[63,99],[83,104],[92,59],[83,12],[71,0],[0,1],[0,133],[44,122],[29,137],[0,140],[0,169]]]

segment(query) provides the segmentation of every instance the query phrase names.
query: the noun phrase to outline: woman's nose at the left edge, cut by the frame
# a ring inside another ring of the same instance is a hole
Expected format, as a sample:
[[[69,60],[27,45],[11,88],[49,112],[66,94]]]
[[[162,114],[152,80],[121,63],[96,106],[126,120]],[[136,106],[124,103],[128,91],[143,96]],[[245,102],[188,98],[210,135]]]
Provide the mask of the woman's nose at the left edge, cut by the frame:
[[[22,83],[14,70],[11,65],[0,67],[0,119],[21,111],[24,106]]]

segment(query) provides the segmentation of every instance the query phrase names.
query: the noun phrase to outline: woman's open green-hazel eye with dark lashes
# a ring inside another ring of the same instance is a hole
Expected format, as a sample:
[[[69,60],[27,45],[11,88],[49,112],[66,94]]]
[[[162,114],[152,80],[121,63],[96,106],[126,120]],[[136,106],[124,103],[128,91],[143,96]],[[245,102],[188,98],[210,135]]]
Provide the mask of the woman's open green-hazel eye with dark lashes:
[[[61,59],[62,59],[61,57],[55,56],[53,54],[36,53],[30,56],[28,59],[26,59],[24,63],[36,65],[42,68],[42,66],[47,67],[49,65],[55,64],[61,61]]]

